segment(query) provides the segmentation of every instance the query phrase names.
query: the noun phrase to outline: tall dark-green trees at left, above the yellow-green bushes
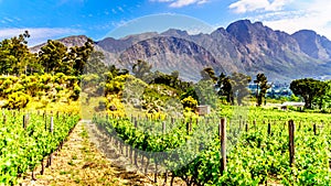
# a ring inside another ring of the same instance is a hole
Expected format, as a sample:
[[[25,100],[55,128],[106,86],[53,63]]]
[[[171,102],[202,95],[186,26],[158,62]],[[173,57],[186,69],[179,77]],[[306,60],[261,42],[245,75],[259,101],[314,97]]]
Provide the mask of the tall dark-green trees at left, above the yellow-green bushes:
[[[63,73],[78,76],[83,74],[94,51],[90,39],[83,46],[70,48],[58,41],[49,40],[39,53],[31,53],[26,41],[29,37],[25,31],[0,42],[0,74],[20,76]]]

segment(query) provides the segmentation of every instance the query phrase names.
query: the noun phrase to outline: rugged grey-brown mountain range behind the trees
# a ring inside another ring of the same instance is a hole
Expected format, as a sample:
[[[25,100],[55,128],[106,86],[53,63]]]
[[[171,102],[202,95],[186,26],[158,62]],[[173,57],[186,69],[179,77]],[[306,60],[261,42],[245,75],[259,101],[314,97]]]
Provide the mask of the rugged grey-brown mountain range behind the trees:
[[[67,46],[82,45],[86,36],[60,41]],[[41,45],[32,47],[38,51]],[[331,41],[311,30],[293,34],[275,31],[261,22],[239,20],[210,34],[191,35],[170,29],[163,33],[147,32],[122,39],[95,41],[105,54],[106,64],[131,69],[138,59],[152,64],[153,70],[179,70],[185,80],[199,80],[200,72],[212,66],[216,74],[234,72],[250,75],[264,73],[275,83],[297,78],[331,77]]]

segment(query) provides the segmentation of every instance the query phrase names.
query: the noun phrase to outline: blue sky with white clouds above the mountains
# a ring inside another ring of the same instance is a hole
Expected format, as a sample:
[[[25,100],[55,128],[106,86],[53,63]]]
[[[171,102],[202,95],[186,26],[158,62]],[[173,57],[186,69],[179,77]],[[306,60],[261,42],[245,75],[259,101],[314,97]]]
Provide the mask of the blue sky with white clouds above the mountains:
[[[331,39],[330,9],[330,0],[0,0],[0,39],[24,30],[31,33],[30,45],[67,35],[100,40],[167,26],[209,32],[241,19],[290,34],[314,30]],[[171,21],[170,15],[178,17]]]

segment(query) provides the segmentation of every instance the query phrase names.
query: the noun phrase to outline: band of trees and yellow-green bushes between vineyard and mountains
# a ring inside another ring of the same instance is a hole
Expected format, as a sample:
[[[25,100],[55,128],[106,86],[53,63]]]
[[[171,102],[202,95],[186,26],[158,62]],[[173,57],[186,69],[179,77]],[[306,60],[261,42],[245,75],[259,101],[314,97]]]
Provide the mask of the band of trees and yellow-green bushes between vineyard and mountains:
[[[271,88],[271,84],[268,83],[265,74],[257,74],[253,79],[242,73],[216,75],[212,67],[206,67],[201,70],[200,83],[189,83],[180,79],[180,74],[177,70],[170,74],[158,70],[152,72],[152,66],[145,61],[137,61],[131,69],[120,69],[115,65],[107,66],[104,63],[104,54],[94,50],[90,39],[87,39],[82,46],[72,47],[66,47],[58,41],[49,40],[38,53],[32,53],[28,47],[26,40],[29,37],[29,32],[25,31],[19,36],[0,42],[0,74],[11,76],[8,78],[1,77],[0,79],[1,100],[23,100],[23,96],[26,95],[35,97],[42,95],[42,92],[47,92],[47,86],[42,85],[41,79],[43,78],[40,77],[44,74],[53,75],[53,79],[61,77],[62,87],[72,86],[67,88],[68,91],[74,92],[67,92],[67,96],[65,96],[68,100],[76,100],[79,97],[81,89],[83,89],[87,92],[86,101],[90,97],[106,97],[107,101],[102,105],[105,105],[107,109],[118,107],[118,105],[114,105],[115,100],[115,102],[125,100],[124,103],[136,105],[137,108],[141,107],[153,112],[162,110],[170,98],[180,99],[182,106],[191,110],[194,110],[197,105],[215,103],[215,96],[227,105],[245,105],[247,103],[245,98],[250,96],[255,97],[256,106],[261,106],[266,103],[267,90]],[[130,72],[135,77],[130,75]],[[14,77],[22,77],[24,83],[13,81]],[[68,80],[73,78],[75,78],[75,83]],[[143,88],[141,92],[132,90],[131,94],[137,95],[140,92],[139,96],[125,98],[129,95],[129,88],[125,88],[128,81],[132,81],[132,84],[135,81],[139,85],[136,89]],[[256,85],[254,92],[248,89],[252,81]],[[12,87],[8,86],[10,84],[12,84]],[[13,86],[14,84],[17,85]],[[53,88],[60,90],[58,86],[52,85]],[[31,87],[35,90],[30,91]],[[320,109],[330,108],[330,81],[311,78],[297,79],[290,85],[292,92],[305,101],[307,109],[314,107]],[[30,100],[30,98],[26,97],[26,100]],[[56,99],[51,100],[55,101]],[[14,103],[7,101],[3,105],[10,108],[20,108],[26,103],[13,106]]]

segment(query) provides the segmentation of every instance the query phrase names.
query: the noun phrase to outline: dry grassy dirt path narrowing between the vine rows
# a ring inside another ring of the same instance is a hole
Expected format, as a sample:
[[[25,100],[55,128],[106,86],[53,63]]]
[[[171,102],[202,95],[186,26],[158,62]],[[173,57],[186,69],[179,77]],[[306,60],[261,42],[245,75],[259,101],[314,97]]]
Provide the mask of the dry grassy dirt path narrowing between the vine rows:
[[[71,133],[60,152],[54,153],[52,165],[45,168],[43,175],[40,167],[34,171],[36,180],[31,180],[31,173],[22,182],[22,186],[49,185],[153,185],[143,175],[126,171],[107,158],[90,142],[89,134],[79,122]]]

